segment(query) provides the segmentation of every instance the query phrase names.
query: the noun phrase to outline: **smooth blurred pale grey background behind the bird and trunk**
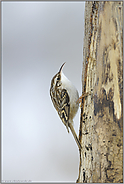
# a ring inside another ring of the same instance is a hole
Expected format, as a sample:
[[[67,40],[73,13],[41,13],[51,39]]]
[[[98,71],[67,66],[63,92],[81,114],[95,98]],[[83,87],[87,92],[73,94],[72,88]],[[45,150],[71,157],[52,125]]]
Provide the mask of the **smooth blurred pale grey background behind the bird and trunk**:
[[[50,99],[63,72],[82,92],[84,2],[2,2],[2,180],[75,182],[78,147]],[[79,133],[80,109],[74,119]]]

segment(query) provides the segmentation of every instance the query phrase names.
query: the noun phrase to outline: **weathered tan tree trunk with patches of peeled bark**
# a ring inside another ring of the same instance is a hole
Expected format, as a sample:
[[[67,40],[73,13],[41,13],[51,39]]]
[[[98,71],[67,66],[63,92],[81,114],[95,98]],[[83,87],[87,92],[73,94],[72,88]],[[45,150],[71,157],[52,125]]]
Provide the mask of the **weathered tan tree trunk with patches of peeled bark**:
[[[78,183],[123,182],[123,2],[86,2]]]

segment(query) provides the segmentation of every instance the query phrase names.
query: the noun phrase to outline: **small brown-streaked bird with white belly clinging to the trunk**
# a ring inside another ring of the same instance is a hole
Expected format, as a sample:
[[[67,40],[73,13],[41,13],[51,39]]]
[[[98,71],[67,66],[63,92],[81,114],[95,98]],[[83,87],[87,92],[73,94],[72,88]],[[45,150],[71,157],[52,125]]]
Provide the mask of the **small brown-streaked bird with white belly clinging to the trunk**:
[[[62,71],[64,65],[65,62],[51,80],[50,97],[68,133],[70,129],[79,150],[81,150],[82,146],[74,130],[73,121],[79,108],[79,94],[72,82],[64,75]]]

